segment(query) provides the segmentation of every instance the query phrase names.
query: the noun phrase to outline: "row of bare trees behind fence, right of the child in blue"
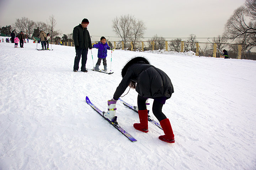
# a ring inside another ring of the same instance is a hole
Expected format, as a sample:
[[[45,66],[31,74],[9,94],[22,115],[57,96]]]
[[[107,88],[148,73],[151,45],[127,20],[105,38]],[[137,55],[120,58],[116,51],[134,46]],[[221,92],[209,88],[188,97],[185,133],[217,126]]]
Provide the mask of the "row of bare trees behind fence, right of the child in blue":
[[[134,49],[141,47],[140,42],[146,31],[142,20],[137,20],[131,15],[122,15],[114,18],[112,28],[116,35],[121,37],[126,48],[131,47],[128,42],[132,42]],[[162,36],[155,34],[148,41],[148,48],[152,48],[153,44],[150,42],[154,41],[155,49],[165,49],[166,39]],[[168,45],[172,51],[179,52],[181,50],[181,41],[180,38],[172,39]],[[196,35],[190,34],[184,43],[185,50],[196,52],[197,42]],[[250,51],[256,46],[256,0],[245,0],[245,4],[238,7],[226,22],[224,33],[211,40],[211,43],[216,43],[217,48],[220,50],[228,47],[233,52],[238,51],[236,45],[228,44],[228,42],[242,44],[243,52]],[[200,49],[201,52],[207,53],[207,51],[212,51],[213,48],[205,44]]]

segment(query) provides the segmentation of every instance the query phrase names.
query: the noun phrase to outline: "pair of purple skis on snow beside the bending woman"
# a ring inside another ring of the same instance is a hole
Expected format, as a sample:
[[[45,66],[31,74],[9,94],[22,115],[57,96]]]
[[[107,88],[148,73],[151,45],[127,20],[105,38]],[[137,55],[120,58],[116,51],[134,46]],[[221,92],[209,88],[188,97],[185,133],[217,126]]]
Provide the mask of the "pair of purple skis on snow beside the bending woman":
[[[136,111],[138,113],[138,111],[134,108],[135,106],[131,106],[130,104],[124,102],[122,99],[119,98],[119,100],[127,107],[129,107],[130,109]],[[118,123],[112,122],[111,120],[107,119],[104,116],[104,112],[102,112],[100,109],[98,109],[94,104],[91,103],[90,99],[86,96],[86,103],[89,104],[94,110],[97,111],[98,114],[100,114],[102,117],[104,117],[104,119],[106,119],[111,125],[113,125],[115,128],[117,128],[118,131],[120,131],[124,136],[126,136],[130,141],[132,142],[136,142],[137,140],[132,137],[128,132],[126,132],[120,125],[118,125]],[[150,118],[150,116],[148,115],[148,121],[152,122],[153,124],[155,124],[156,126],[158,126],[159,128],[161,128],[161,125],[154,121],[153,119]],[[161,128],[162,129],[162,128]]]

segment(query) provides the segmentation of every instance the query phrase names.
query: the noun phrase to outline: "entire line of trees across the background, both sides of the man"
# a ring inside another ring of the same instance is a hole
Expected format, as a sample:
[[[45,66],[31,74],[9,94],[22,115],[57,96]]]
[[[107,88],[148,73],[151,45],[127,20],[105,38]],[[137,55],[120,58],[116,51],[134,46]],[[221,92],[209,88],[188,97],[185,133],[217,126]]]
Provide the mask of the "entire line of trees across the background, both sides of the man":
[[[60,30],[56,30],[57,22],[54,16],[49,16],[47,23],[44,22],[34,22],[28,18],[22,17],[21,19],[16,19],[14,24],[14,29],[17,31],[22,31],[28,38],[38,37],[39,31],[44,30],[50,33],[51,40],[59,39],[58,35],[62,34]],[[6,26],[0,28],[1,33],[10,34],[11,26]],[[143,20],[138,20],[132,15],[122,15],[120,17],[114,18],[112,20],[112,30],[113,32],[121,38],[124,42],[125,48],[140,48],[142,39],[144,39],[144,34],[146,32],[146,26]],[[73,41],[73,34],[63,34],[63,42]],[[165,38],[155,34],[152,38],[148,39],[149,42],[154,41],[155,49],[165,49]],[[179,52],[181,50],[181,39],[172,39],[168,44],[172,51]],[[184,40],[183,40],[184,41]],[[225,31],[222,35],[214,37],[211,43],[216,43],[218,49],[230,48],[235,50],[235,46],[232,44],[227,44],[231,41],[235,44],[242,44],[242,51],[250,51],[251,48],[256,46],[256,0],[245,0],[245,4],[238,7],[234,13],[230,16],[229,20],[225,24]],[[129,42],[129,43],[128,43]],[[196,35],[190,34],[185,40],[184,48],[186,51],[196,52]],[[153,44],[148,43],[148,48],[152,48]],[[212,47],[208,44],[200,48],[201,51],[207,52],[212,50]]]

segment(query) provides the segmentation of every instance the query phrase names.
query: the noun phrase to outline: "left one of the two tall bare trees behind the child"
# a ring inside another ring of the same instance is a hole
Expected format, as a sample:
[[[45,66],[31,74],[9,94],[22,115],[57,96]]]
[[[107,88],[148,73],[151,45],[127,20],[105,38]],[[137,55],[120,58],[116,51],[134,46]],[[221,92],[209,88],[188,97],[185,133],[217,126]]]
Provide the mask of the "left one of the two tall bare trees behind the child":
[[[119,35],[124,42],[124,44],[127,44],[128,37],[131,36],[131,25],[132,21],[134,20],[133,16],[128,15],[122,15],[119,18],[114,18],[112,21],[112,28],[113,31]]]

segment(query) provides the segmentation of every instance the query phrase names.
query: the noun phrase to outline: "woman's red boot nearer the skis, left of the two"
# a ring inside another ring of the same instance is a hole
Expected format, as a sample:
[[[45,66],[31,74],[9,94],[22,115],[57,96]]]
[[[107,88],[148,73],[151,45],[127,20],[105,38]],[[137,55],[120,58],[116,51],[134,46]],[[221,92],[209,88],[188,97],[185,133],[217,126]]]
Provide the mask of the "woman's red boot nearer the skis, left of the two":
[[[148,110],[139,110],[140,124],[133,124],[133,127],[139,131],[148,133]]]

